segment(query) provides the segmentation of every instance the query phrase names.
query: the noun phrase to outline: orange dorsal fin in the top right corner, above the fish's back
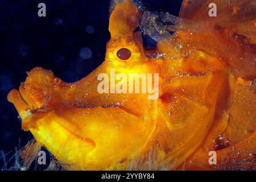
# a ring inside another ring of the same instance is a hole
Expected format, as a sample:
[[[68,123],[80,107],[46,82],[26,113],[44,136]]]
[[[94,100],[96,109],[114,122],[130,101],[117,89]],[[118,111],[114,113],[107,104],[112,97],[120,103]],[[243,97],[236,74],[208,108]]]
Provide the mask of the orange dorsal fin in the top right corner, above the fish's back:
[[[210,17],[210,3],[216,3],[217,17]],[[180,18],[193,21],[212,21],[213,26],[229,28],[234,34],[245,36],[256,44],[256,1],[254,0],[184,0]]]

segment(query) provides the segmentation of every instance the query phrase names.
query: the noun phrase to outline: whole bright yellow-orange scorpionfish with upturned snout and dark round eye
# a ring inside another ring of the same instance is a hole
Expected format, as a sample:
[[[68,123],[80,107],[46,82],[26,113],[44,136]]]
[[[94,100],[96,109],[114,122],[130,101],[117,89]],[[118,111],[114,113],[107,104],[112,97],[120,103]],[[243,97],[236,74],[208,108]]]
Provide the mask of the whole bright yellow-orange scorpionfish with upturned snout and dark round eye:
[[[175,17],[113,2],[104,63],[73,83],[34,68],[11,90],[22,129],[67,170],[255,170],[256,2],[210,3]],[[132,73],[154,89],[125,92]]]

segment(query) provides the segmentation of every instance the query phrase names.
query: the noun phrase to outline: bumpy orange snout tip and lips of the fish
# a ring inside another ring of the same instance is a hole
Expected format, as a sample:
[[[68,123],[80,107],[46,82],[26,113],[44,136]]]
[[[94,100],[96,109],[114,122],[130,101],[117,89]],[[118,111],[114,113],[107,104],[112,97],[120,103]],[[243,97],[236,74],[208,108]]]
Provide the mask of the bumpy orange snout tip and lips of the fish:
[[[28,116],[42,118],[47,113],[53,94],[52,87],[56,84],[53,73],[43,68],[34,68],[27,75],[19,90],[13,89],[7,96],[23,121]]]

